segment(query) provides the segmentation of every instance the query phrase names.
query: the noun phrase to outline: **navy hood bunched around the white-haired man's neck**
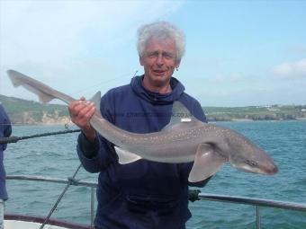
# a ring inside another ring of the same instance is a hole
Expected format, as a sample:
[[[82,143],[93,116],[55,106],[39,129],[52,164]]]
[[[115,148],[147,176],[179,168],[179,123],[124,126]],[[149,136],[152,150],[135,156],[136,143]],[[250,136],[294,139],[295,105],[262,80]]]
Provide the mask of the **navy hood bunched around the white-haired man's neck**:
[[[153,104],[169,104],[178,100],[181,94],[184,92],[184,86],[175,77],[171,77],[170,85],[171,92],[158,93],[148,91],[143,85],[144,75],[135,76],[130,81],[130,86],[141,99],[149,101]]]

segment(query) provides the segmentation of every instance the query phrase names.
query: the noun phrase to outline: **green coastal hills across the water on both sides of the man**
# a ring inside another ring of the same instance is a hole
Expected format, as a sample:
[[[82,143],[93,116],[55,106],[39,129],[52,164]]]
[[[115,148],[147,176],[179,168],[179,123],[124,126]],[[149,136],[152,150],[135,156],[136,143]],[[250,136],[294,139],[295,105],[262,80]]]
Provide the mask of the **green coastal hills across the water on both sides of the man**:
[[[4,95],[0,95],[0,102],[15,124],[66,124],[70,121],[66,105],[41,104]],[[306,105],[203,107],[203,110],[209,121],[306,119]]]

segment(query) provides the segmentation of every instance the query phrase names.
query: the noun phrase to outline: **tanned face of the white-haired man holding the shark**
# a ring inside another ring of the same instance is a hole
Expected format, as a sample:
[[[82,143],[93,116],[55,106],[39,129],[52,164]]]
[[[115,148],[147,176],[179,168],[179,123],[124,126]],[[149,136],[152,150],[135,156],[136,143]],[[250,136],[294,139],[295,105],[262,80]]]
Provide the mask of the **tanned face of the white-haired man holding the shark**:
[[[144,67],[145,77],[152,86],[168,84],[180,61],[176,60],[175,41],[171,39],[148,40],[142,57],[139,57],[140,65]]]

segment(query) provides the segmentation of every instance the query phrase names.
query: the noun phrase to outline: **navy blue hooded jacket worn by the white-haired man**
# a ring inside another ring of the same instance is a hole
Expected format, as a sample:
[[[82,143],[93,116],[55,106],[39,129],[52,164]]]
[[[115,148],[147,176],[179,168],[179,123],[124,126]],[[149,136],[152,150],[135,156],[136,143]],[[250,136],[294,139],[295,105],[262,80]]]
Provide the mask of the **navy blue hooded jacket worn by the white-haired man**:
[[[103,95],[100,108],[105,119],[130,132],[156,132],[169,122],[173,102],[181,101],[194,117],[206,121],[200,103],[184,93],[183,84],[174,77],[172,92],[166,94],[148,91],[142,79],[134,77],[130,84]],[[187,179],[193,163],[119,164],[111,143],[96,137],[92,144],[83,134],[78,137],[77,153],[85,170],[100,172],[96,228],[185,228],[191,217]]]

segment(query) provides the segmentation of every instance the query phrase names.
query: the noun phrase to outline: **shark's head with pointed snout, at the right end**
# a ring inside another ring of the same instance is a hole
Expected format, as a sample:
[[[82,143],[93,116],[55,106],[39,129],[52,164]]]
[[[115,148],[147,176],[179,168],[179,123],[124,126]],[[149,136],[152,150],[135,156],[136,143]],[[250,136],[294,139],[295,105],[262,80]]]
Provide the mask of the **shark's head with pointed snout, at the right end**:
[[[278,172],[278,168],[272,158],[263,149],[254,145],[246,137],[238,133],[236,134],[236,137],[230,137],[230,141],[227,141],[227,146],[230,151],[229,163],[233,167],[245,172],[256,172],[268,175]]]

